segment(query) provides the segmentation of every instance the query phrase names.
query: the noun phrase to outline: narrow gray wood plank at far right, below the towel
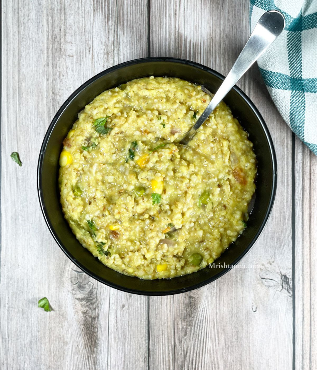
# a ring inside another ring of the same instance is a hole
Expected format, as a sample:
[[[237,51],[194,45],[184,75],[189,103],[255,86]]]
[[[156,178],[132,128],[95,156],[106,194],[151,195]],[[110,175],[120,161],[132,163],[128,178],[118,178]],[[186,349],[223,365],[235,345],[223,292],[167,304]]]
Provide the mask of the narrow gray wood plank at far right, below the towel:
[[[317,368],[317,157],[295,141],[295,369]]]

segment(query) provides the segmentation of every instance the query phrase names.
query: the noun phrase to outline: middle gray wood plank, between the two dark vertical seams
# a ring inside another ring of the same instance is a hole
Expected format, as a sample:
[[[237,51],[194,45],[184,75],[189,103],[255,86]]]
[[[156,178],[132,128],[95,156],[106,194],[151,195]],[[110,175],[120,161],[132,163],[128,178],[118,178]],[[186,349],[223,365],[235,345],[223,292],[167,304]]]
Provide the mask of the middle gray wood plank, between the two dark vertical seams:
[[[249,37],[248,6],[246,0],[151,1],[151,55],[188,58],[228,73]],[[278,158],[272,215],[242,261],[260,268],[233,269],[194,292],[150,298],[150,369],[292,367],[291,131],[257,67],[239,86],[266,120]]]

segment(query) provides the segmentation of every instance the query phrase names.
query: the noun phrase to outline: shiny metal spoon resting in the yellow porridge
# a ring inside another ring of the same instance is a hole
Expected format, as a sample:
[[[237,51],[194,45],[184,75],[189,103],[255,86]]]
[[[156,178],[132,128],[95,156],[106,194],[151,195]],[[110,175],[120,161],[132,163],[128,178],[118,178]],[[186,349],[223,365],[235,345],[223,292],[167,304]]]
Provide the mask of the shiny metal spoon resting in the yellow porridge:
[[[264,51],[273,43],[273,41],[281,34],[285,27],[285,19],[283,14],[277,10],[269,10],[259,19],[254,30],[242,49],[239,57],[233,64],[231,71],[220,85],[216,94],[207,105],[207,108],[202,112],[196,123],[190,128],[187,134],[181,140],[181,144],[188,144],[194,137],[197,129],[206,121],[212,111],[232,89],[232,87],[240,80],[251,65],[264,53]]]

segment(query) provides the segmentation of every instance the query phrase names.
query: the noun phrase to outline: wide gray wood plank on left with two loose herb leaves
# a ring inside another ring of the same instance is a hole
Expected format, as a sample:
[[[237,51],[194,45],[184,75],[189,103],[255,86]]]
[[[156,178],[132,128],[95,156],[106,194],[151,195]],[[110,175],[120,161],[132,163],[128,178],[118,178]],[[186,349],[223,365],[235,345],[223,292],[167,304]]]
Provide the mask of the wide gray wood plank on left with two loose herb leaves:
[[[147,367],[147,298],[74,266],[48,232],[36,192],[39,148],[64,100],[105,68],[147,55],[146,7],[146,0],[2,4],[1,369]],[[37,308],[43,296],[53,312]]]

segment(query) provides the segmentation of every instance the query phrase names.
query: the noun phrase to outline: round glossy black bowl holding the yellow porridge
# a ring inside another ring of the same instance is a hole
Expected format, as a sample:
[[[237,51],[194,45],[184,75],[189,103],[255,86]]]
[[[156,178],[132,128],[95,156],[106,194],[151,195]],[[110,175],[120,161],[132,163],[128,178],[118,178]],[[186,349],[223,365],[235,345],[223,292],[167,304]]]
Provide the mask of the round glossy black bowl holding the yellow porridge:
[[[83,248],[64,218],[58,191],[58,160],[62,141],[77,120],[78,112],[101,92],[124,82],[146,76],[179,77],[204,85],[215,92],[224,77],[201,64],[176,58],[144,58],[109,68],[92,77],[65,101],[48,128],[40,151],[37,169],[38,197],[51,234],[60,248],[80,269],[96,280],[129,293],[167,295],[196,289],[216,280],[245,256],[259,237],[273,206],[277,168],[269,130],[249,98],[233,87],[224,101],[249,133],[257,156],[257,188],[253,212],[242,235],[216,260],[219,267],[205,268],[174,279],[142,280],[122,275],[104,266]],[[241,273],[243,273],[241,271]]]

